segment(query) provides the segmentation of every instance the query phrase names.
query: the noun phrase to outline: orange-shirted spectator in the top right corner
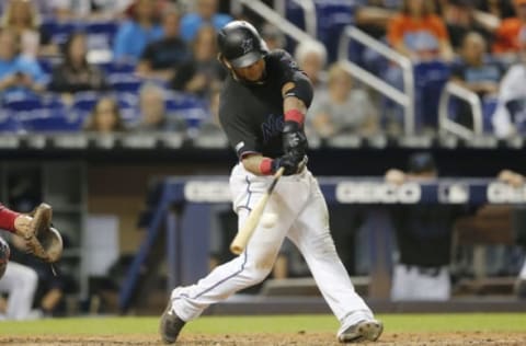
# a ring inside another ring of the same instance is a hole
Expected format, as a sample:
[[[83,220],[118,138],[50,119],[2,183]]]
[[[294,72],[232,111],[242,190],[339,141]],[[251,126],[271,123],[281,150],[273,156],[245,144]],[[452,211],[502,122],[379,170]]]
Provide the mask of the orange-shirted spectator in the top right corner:
[[[521,50],[519,36],[526,35],[526,0],[514,0],[516,16],[502,21],[495,33],[493,53],[516,54]]]

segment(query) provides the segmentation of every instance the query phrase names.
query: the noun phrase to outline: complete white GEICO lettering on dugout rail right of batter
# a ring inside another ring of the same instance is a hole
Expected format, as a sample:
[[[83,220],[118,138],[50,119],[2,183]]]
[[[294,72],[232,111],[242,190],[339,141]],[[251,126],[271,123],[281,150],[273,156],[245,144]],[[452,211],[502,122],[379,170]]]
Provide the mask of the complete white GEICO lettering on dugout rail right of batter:
[[[336,185],[340,203],[403,203],[420,201],[422,189],[416,183],[397,186],[387,183],[340,183]]]

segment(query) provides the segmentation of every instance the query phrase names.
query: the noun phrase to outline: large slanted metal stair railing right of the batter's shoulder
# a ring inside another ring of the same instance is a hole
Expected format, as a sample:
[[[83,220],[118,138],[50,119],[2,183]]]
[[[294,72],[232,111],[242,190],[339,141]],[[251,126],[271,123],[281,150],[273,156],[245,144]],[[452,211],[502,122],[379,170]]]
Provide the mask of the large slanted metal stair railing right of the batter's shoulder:
[[[348,59],[348,48],[351,41],[357,41],[361,44],[374,49],[378,54],[382,55],[390,61],[398,64],[402,69],[403,76],[403,90],[404,92],[396,89],[389,83],[386,83],[382,79],[376,77],[358,65]],[[414,77],[413,65],[411,60],[399,54],[398,51],[389,48],[385,44],[368,36],[361,30],[347,25],[340,36],[340,43],[338,47],[338,58],[340,64],[355,78],[359,79],[363,83],[375,89],[379,93],[391,99],[396,103],[400,104],[404,108],[404,124],[403,129],[405,135],[414,134]]]

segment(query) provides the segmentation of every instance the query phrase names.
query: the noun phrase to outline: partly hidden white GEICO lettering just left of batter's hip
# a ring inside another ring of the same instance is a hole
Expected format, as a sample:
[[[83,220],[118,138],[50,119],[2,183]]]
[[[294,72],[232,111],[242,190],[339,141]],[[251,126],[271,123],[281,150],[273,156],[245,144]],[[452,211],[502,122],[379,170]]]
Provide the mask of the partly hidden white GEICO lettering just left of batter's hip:
[[[184,198],[194,203],[230,201],[227,182],[188,182],[184,185]]]

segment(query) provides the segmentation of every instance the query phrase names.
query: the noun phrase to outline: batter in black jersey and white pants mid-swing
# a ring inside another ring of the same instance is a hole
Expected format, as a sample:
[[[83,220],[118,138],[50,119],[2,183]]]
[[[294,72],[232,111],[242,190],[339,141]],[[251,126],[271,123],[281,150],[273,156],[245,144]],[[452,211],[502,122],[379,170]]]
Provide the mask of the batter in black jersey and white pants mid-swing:
[[[220,95],[219,119],[239,157],[230,175],[239,229],[283,168],[283,177],[265,207],[277,220],[259,224],[239,256],[197,284],[172,291],[160,321],[163,342],[174,343],[184,324],[208,305],[262,281],[285,237],[300,250],[340,321],[338,339],[376,341],[382,324],[355,292],[338,257],[325,200],[306,168],[304,120],[312,100],[308,78],[286,51],[267,51],[258,31],[247,22],[227,24],[217,39],[219,59],[230,71]]]

